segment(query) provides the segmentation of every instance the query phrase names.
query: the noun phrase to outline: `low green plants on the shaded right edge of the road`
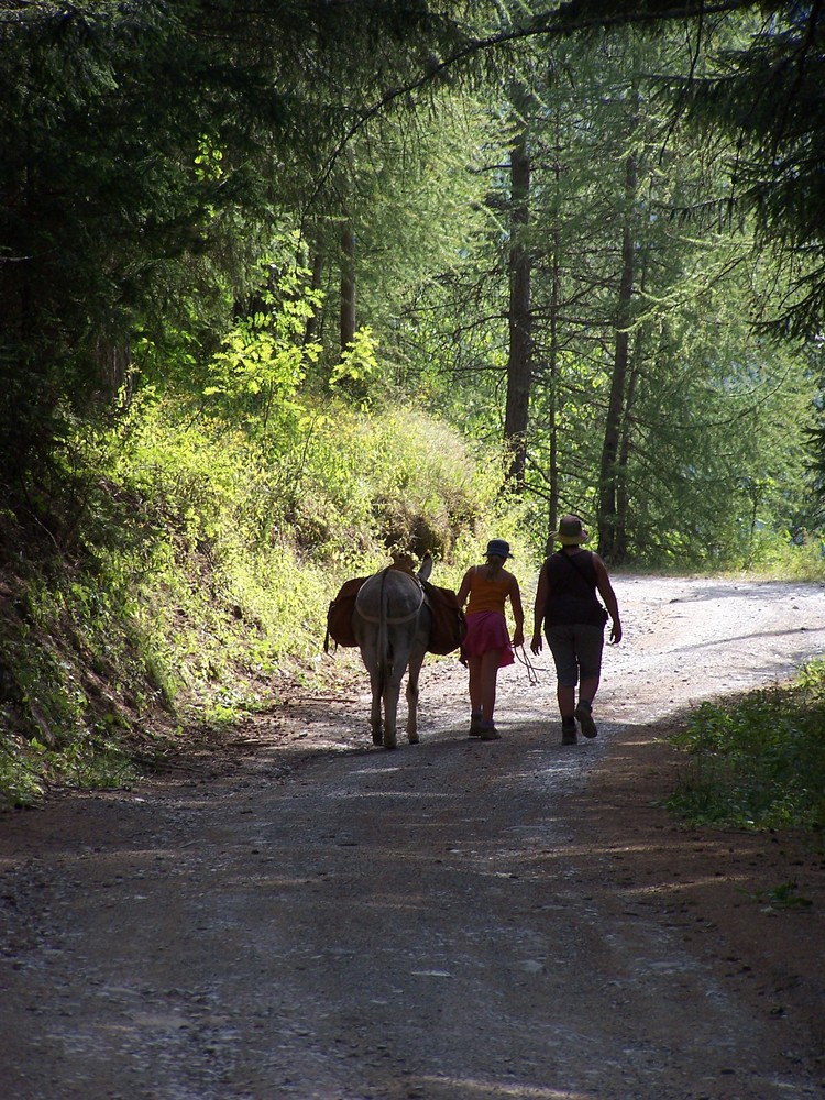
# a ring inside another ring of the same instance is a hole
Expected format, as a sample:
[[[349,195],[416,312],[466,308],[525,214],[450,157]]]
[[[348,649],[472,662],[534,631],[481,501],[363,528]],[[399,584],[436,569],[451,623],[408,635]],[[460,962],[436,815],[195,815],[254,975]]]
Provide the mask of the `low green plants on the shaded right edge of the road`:
[[[703,703],[671,738],[690,767],[668,809],[692,825],[825,827],[825,659],[794,682]]]

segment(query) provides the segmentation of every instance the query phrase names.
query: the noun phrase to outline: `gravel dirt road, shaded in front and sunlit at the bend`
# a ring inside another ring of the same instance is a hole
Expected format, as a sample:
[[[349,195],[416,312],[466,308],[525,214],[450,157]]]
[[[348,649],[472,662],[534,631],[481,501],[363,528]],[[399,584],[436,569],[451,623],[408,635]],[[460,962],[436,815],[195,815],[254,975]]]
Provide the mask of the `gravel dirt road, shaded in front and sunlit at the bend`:
[[[822,846],[652,804],[669,716],[825,651],[825,590],[616,590],[593,743],[560,746],[544,656],[503,673],[501,741],[440,661],[421,744],[374,749],[353,664],[164,778],[0,817],[0,1094],[825,1097]],[[791,859],[814,904],[767,912]]]

